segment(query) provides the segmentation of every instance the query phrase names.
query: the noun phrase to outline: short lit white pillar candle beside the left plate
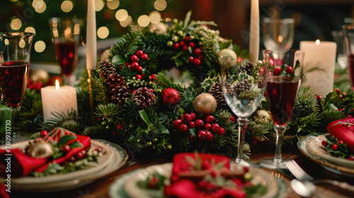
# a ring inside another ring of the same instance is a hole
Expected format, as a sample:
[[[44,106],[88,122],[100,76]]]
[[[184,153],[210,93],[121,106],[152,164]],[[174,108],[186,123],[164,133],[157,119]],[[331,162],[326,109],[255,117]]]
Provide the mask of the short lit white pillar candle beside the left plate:
[[[61,86],[55,82],[55,86],[46,86],[40,89],[42,95],[42,107],[44,122],[51,118],[56,118],[53,112],[62,114],[73,110],[77,111],[76,88],[72,86]]]

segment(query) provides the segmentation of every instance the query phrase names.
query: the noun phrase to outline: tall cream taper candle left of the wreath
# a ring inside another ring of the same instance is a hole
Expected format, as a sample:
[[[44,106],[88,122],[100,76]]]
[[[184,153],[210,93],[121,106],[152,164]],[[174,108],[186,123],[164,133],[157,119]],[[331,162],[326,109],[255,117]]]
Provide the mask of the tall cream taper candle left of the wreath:
[[[97,64],[95,0],[88,1],[86,26],[86,69],[95,70]]]

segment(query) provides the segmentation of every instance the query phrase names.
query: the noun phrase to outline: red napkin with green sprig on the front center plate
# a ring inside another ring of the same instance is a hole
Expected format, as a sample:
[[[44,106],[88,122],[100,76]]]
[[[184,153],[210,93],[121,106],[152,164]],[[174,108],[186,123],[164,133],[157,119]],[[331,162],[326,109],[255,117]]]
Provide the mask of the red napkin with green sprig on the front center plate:
[[[226,156],[207,153],[178,153],[173,157],[171,185],[164,188],[166,197],[246,197],[243,179],[244,169],[230,171],[230,161]],[[204,180],[206,175],[219,175],[224,180],[234,182],[228,187],[215,187]]]

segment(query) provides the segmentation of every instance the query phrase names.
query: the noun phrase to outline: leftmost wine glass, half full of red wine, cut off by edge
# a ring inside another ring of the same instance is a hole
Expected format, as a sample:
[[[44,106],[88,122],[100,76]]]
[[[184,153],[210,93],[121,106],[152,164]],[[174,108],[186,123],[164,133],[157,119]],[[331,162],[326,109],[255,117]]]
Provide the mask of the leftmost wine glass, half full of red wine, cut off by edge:
[[[33,33],[0,33],[0,81],[11,108],[12,137],[21,136],[16,122],[27,87],[33,36]]]

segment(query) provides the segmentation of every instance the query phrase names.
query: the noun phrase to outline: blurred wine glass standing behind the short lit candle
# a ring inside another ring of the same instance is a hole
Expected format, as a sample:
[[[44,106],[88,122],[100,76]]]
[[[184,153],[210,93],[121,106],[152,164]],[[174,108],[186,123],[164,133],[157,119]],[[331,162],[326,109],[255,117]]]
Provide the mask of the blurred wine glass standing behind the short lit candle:
[[[57,62],[62,68],[65,85],[71,85],[71,76],[76,69],[77,47],[84,21],[79,18],[50,18],[52,41],[57,52]]]

